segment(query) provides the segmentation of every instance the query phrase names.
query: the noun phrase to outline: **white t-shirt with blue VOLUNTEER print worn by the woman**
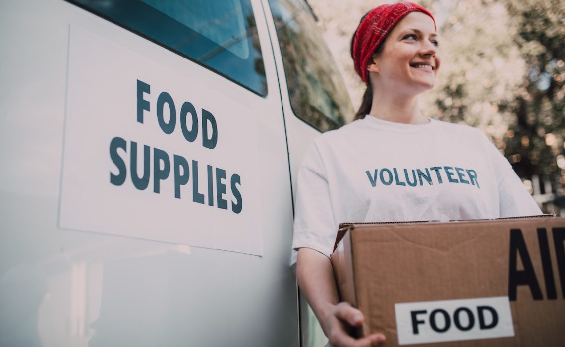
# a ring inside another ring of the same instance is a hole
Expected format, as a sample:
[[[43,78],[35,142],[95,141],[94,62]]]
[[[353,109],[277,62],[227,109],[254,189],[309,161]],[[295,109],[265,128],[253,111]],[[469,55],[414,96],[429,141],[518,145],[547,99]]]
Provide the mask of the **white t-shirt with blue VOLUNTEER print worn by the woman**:
[[[367,115],[317,137],[298,172],[298,248],[329,257],[342,222],[481,219],[541,214],[505,157],[467,125]]]

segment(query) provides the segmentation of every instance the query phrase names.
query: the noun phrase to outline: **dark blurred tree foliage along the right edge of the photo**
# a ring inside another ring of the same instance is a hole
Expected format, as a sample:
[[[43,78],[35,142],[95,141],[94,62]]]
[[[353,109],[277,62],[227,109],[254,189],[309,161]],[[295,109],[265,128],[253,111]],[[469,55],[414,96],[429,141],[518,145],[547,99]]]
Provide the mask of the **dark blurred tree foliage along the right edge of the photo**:
[[[515,115],[505,136],[505,153],[520,177],[544,177],[552,190],[565,185],[565,2],[507,0],[518,25],[514,42],[520,47],[525,70],[515,101]],[[543,190],[543,186],[542,186]],[[550,193],[550,192],[546,192]]]

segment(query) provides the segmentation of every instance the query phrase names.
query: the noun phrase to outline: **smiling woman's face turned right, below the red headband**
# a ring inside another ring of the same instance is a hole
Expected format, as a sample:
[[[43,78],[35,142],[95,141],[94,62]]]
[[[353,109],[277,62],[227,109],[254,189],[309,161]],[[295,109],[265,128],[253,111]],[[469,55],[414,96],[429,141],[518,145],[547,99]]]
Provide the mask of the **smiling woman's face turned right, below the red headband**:
[[[388,34],[373,63],[371,79],[376,78],[380,88],[402,94],[432,89],[440,68],[432,18],[422,12],[408,14]]]

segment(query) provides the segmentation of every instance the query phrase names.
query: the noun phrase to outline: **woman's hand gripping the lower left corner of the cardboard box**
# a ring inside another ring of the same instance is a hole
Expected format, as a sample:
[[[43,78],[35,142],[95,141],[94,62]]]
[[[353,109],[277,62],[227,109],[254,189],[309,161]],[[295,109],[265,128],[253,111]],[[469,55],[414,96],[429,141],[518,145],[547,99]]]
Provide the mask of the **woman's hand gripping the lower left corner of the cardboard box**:
[[[358,309],[351,307],[349,303],[340,302],[329,311],[328,318],[324,324],[327,328],[329,344],[332,347],[376,347],[385,342],[385,336],[375,333],[369,336],[355,339],[348,331],[363,324],[363,314]]]

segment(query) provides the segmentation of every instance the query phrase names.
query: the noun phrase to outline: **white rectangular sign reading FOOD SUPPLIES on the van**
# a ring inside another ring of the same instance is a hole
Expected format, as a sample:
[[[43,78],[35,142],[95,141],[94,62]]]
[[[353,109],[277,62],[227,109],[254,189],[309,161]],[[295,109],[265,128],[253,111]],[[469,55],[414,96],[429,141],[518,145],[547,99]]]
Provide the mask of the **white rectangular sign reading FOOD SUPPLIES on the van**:
[[[62,228],[262,255],[253,110],[72,25]]]

